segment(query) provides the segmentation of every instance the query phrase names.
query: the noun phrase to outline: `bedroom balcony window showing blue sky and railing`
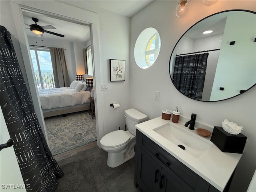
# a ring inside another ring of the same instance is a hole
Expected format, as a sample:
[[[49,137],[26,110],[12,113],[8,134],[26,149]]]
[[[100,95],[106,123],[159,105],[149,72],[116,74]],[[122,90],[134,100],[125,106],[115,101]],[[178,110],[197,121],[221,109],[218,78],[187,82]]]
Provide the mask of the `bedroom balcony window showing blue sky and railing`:
[[[55,88],[52,60],[47,49],[30,48],[37,89]]]

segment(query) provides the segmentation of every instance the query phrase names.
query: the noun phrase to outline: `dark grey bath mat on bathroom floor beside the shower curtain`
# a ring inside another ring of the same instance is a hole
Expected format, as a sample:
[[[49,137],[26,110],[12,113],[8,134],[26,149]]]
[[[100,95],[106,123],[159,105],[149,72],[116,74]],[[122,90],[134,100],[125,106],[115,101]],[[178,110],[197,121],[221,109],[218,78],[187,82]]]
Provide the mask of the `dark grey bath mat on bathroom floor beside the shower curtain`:
[[[61,166],[64,176],[58,179],[55,192],[97,192],[96,181],[90,160],[84,157]]]

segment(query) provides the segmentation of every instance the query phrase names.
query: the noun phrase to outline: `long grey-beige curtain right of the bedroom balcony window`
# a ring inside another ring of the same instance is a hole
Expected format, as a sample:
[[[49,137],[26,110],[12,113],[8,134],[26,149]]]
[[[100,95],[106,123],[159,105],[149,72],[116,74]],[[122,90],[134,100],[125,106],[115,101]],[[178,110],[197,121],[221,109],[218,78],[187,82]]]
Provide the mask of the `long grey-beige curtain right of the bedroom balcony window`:
[[[70,81],[63,48],[49,47],[55,87],[68,87]]]

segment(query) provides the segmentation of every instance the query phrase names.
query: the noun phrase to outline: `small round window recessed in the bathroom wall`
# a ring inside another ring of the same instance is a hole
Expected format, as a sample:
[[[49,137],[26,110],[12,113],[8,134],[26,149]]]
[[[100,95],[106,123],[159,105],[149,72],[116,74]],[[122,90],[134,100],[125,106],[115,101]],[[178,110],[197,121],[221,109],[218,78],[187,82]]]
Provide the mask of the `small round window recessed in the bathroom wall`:
[[[159,33],[154,28],[143,30],[134,47],[134,58],[136,64],[142,68],[149,68],[156,61],[161,47]]]

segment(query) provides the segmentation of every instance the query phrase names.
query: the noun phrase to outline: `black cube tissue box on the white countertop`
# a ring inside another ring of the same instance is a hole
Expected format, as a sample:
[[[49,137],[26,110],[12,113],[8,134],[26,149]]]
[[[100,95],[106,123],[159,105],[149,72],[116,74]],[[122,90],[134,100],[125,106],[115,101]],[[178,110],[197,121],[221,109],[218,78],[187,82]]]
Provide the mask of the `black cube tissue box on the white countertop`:
[[[247,137],[243,134],[232,135],[222,127],[214,127],[211,137],[213,142],[222,152],[243,153]]]

